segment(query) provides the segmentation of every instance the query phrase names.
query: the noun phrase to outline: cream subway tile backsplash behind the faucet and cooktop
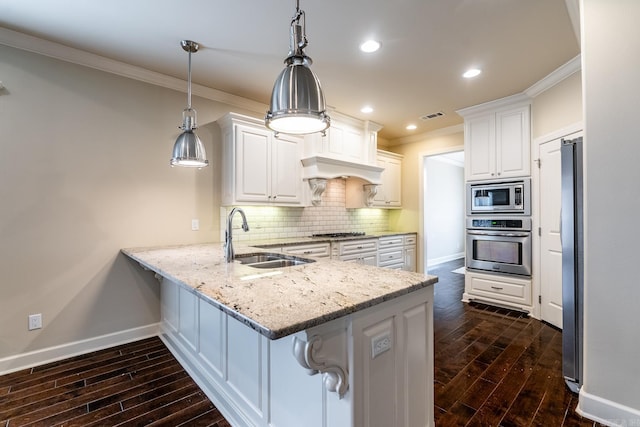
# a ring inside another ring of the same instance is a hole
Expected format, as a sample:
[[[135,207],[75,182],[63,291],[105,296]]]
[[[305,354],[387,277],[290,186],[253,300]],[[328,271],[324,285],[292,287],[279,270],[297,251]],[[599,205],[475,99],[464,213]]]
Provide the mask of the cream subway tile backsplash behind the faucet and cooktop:
[[[388,229],[389,211],[377,208],[347,209],[345,207],[344,179],[332,179],[322,194],[320,206],[289,208],[275,206],[242,206],[247,216],[249,231],[240,230],[242,219],[233,219],[235,241],[262,240],[290,237],[309,237],[314,233],[364,231],[373,233]],[[226,218],[231,207],[221,208],[220,227],[224,239]]]

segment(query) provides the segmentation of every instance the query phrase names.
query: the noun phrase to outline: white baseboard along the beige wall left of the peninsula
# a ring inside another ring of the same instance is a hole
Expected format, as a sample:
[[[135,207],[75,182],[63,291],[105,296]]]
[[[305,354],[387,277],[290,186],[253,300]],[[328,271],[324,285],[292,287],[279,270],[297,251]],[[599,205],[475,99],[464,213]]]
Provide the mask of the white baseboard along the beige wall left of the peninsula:
[[[0,375],[157,336],[159,331],[160,324],[153,323],[139,328],[127,329],[125,331],[114,332],[86,340],[74,341],[54,347],[5,357],[0,359]]]

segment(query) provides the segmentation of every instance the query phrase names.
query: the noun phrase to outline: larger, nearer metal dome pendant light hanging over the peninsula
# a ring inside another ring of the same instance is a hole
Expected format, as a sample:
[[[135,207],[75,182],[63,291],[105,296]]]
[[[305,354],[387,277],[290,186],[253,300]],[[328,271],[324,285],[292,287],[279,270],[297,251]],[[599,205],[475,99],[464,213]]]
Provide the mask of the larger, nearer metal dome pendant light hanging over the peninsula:
[[[320,81],[309,66],[312,61],[303,49],[307,46],[304,11],[296,0],[291,18],[289,55],[286,67],[273,86],[270,110],[265,125],[278,133],[307,134],[324,132],[330,125]]]

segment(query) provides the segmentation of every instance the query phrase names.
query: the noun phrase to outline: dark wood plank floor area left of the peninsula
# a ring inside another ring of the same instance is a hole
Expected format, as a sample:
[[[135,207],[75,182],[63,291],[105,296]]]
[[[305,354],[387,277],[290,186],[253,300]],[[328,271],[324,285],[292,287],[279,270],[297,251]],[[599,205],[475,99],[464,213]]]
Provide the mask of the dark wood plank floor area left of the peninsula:
[[[0,376],[0,426],[230,427],[159,338]]]

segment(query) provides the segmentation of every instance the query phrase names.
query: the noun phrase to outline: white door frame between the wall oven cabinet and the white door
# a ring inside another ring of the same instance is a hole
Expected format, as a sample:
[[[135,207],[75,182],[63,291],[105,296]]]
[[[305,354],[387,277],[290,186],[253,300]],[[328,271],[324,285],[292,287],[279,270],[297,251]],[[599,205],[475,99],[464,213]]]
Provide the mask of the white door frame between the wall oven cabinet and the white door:
[[[569,126],[558,129],[554,132],[539,136],[535,138],[533,140],[533,143],[531,144],[531,205],[533,207],[531,211],[531,229],[533,231],[533,239],[531,241],[531,253],[533,257],[531,260],[533,264],[533,271],[531,276],[531,296],[533,297],[534,301],[533,312],[531,313],[531,316],[536,319],[541,318],[541,306],[538,301],[540,301],[539,297],[542,292],[542,287],[540,284],[540,251],[542,250],[542,245],[540,243],[540,167],[537,165],[538,161],[540,160],[540,145],[583,130],[584,123],[582,121],[579,121]]]

